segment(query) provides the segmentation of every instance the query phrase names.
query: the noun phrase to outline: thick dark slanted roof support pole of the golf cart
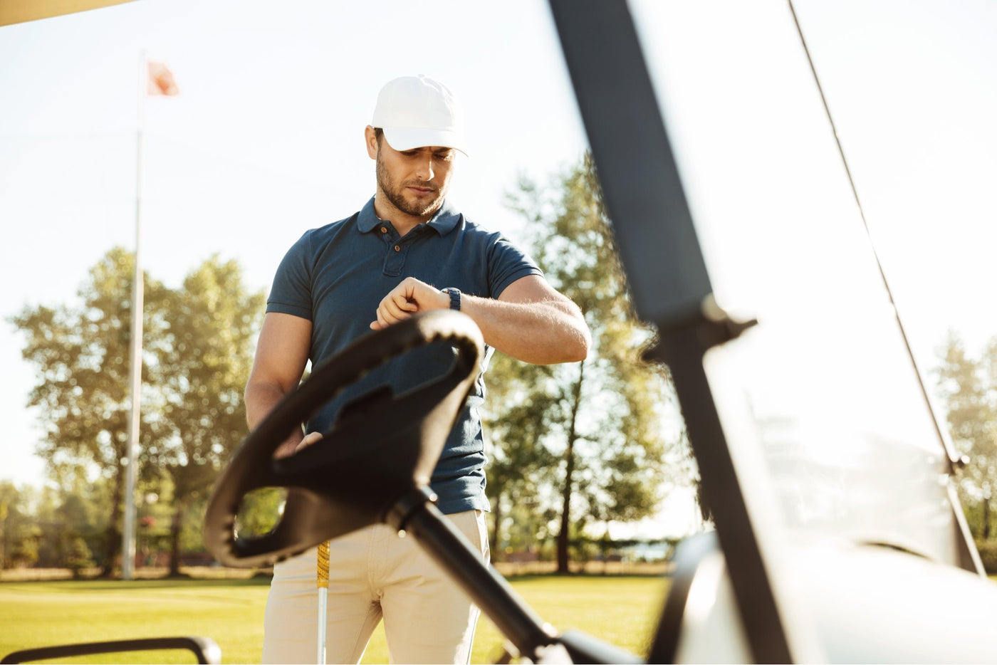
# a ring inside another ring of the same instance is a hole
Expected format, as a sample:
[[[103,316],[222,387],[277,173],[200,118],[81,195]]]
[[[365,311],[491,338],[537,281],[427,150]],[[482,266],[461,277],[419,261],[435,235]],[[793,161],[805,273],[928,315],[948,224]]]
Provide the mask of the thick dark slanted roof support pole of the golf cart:
[[[622,1],[549,2],[636,309],[658,327],[752,654],[760,663],[806,658],[787,629],[703,368],[706,351],[739,331],[707,317],[712,286],[633,19]]]

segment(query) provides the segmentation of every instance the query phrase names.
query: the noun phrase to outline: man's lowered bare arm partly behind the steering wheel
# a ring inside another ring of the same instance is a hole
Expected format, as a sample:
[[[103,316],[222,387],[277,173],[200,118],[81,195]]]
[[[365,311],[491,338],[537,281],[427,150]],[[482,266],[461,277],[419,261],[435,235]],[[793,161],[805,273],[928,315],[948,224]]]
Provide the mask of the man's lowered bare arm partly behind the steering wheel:
[[[300,316],[269,312],[263,318],[256,358],[244,395],[250,431],[256,429],[285,395],[298,387],[308,364],[311,330],[311,321]],[[275,457],[293,454],[301,440],[301,431],[295,430],[276,450]]]

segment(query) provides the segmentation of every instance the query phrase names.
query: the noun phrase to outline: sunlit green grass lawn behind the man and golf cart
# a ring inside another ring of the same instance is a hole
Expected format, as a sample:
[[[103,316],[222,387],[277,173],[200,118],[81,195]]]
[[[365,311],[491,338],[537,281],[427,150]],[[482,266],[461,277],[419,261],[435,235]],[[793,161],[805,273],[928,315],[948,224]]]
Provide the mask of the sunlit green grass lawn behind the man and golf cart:
[[[576,628],[646,654],[668,588],[663,577],[554,575],[510,579],[545,621]],[[200,635],[221,647],[224,663],[258,663],[269,579],[80,580],[0,583],[0,656],[38,646],[137,637]],[[494,662],[502,637],[478,625],[474,663]],[[193,662],[189,654],[141,652],[74,659],[79,663]],[[364,663],[388,662],[381,628]]]

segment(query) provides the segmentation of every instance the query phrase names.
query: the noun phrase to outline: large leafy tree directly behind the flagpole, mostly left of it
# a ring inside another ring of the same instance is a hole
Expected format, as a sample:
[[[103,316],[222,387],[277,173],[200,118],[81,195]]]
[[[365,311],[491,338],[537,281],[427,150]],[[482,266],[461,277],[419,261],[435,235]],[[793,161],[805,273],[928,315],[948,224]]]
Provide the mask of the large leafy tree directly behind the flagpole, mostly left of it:
[[[25,307],[14,325],[27,335],[25,360],[38,371],[28,406],[38,407],[45,432],[37,453],[61,484],[74,475],[96,473],[114,487],[105,533],[102,574],[110,575],[120,550],[121,503],[125,493],[131,410],[130,344],[135,257],[121,247],[109,251],[80,288],[81,306]],[[166,289],[146,276],[143,383],[166,321]],[[144,396],[145,397],[145,396]],[[141,447],[153,444],[142,427]]]

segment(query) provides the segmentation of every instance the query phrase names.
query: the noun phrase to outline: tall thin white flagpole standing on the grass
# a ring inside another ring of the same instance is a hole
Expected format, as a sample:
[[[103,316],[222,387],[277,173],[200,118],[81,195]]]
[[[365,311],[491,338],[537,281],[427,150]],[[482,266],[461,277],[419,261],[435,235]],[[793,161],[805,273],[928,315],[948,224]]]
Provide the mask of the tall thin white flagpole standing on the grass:
[[[135,195],[135,275],[132,279],[132,414],[129,420],[128,466],[125,470],[125,527],[122,533],[122,578],[132,579],[135,567],[135,484],[136,451],[139,448],[139,426],[142,414],[142,313],[145,284],[143,283],[140,247],[142,239],[142,175],[146,124],[146,88],[149,85],[149,65],[146,52],[140,57],[139,124],[136,141]]]

